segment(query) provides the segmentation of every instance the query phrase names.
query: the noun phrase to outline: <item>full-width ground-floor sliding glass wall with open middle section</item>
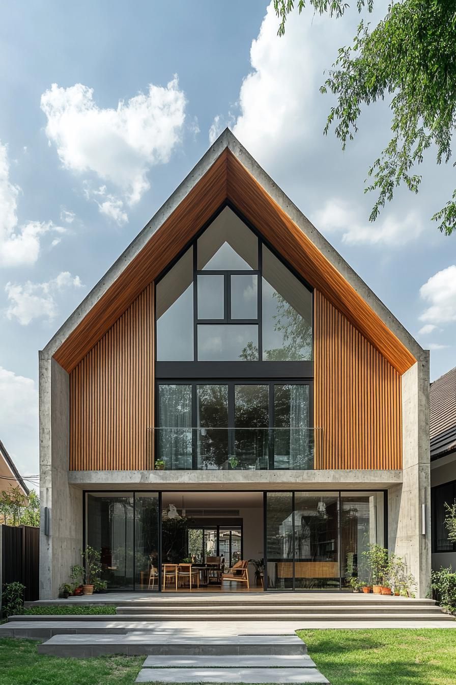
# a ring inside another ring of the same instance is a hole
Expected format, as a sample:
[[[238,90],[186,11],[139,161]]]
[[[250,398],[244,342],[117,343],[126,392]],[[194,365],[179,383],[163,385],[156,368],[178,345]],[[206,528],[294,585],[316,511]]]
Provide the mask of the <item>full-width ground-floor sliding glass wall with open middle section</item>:
[[[100,553],[107,590],[163,590],[163,573],[176,573],[179,564],[195,566],[208,586],[207,566],[222,571],[240,560],[249,562],[251,589],[348,590],[352,577],[368,580],[368,545],[386,542],[383,490],[237,490],[223,497],[86,492],[83,544]],[[233,589],[214,574],[218,591]]]

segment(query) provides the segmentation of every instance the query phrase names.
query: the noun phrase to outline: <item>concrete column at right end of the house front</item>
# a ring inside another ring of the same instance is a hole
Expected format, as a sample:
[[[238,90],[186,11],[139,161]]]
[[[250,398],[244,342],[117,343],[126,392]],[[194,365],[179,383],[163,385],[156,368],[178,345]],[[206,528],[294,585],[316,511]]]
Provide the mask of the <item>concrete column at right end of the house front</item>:
[[[427,352],[402,377],[402,429],[403,483],[388,490],[388,547],[404,558],[414,575],[417,597],[426,597],[431,574]]]

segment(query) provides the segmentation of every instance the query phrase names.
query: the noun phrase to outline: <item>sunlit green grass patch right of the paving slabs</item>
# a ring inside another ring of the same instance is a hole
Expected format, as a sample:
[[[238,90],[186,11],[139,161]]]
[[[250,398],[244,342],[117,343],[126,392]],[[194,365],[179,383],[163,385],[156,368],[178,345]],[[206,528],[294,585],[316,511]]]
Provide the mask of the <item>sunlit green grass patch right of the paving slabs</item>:
[[[456,685],[456,629],[297,634],[331,685]]]

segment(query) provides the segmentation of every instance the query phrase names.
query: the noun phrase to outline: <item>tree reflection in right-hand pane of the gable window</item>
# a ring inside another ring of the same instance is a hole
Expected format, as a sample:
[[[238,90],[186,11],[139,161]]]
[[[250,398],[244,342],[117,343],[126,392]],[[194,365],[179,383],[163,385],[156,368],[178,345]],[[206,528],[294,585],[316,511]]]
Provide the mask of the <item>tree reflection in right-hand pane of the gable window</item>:
[[[309,351],[312,349],[312,324],[277,291],[274,291],[273,297],[277,300],[277,313],[273,315],[274,330],[282,333],[282,346],[265,350],[263,358],[268,362],[309,359]]]

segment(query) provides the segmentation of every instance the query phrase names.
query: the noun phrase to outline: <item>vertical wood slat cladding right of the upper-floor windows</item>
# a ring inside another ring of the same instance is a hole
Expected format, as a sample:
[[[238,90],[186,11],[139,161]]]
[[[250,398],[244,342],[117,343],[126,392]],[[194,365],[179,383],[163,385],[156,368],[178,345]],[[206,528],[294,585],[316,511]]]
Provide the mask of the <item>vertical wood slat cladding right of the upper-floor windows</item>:
[[[401,375],[314,290],[315,469],[402,469]]]

